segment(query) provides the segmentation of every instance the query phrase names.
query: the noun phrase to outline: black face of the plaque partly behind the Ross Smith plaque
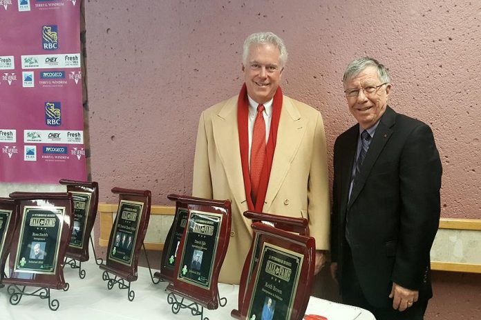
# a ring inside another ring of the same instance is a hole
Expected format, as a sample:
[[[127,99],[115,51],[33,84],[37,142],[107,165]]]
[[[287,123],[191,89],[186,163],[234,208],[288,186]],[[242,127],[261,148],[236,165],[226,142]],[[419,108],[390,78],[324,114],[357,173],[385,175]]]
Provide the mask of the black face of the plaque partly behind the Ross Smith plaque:
[[[84,248],[86,223],[88,221],[88,209],[92,194],[88,192],[70,192],[73,199],[73,230],[69,246]]]

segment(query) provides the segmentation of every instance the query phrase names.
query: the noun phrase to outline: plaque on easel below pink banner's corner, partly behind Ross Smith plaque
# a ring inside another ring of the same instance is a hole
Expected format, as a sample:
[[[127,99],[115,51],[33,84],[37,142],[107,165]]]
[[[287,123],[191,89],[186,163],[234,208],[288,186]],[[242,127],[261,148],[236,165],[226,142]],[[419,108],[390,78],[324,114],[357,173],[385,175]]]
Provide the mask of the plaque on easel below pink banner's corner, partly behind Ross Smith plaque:
[[[85,270],[82,269],[82,262],[88,261],[88,241],[92,243],[95,255],[95,247],[91,239],[91,232],[95,217],[97,216],[97,205],[99,202],[99,185],[97,182],[71,181],[62,179],[59,183],[66,185],[67,192],[72,194],[73,199],[73,229],[72,237],[65,254],[65,266],[79,269],[79,277],[84,279]],[[98,259],[95,255],[95,263]],[[78,264],[77,264],[78,261]],[[100,263],[97,263],[100,264]]]

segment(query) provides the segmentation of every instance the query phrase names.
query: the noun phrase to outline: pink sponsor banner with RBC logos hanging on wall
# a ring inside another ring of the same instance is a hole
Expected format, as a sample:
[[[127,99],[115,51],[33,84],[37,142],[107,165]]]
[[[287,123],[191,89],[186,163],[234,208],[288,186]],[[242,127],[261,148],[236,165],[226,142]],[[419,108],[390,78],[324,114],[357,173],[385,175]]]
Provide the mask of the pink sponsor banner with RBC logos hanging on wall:
[[[0,0],[0,181],[86,180],[80,0]]]

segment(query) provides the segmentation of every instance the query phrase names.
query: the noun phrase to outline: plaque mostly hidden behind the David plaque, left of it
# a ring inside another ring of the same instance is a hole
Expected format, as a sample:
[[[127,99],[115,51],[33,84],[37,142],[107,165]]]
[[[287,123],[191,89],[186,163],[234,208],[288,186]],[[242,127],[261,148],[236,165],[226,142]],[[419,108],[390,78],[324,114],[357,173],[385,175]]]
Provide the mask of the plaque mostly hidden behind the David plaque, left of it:
[[[177,198],[172,199],[171,195],[169,199],[176,201]],[[164,250],[162,250],[162,260],[160,263],[160,272],[155,272],[154,276],[163,281],[173,282],[173,271],[176,267],[177,252],[180,245],[180,239],[184,233],[185,226],[187,225],[187,215],[189,209],[187,204],[176,202],[176,215],[173,218],[172,226],[169,229],[167,238],[165,239]]]

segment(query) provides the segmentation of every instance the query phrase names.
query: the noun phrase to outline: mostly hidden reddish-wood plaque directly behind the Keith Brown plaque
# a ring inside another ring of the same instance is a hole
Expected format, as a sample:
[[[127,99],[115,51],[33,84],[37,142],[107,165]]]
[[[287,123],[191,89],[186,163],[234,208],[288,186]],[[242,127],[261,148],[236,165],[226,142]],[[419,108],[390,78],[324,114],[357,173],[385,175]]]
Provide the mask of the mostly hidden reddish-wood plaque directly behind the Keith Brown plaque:
[[[267,223],[270,226],[274,226],[274,228],[288,232],[295,232],[303,236],[309,234],[309,222],[308,219],[305,218],[285,217],[276,214],[253,211],[244,212],[244,217],[251,219],[253,223]],[[232,310],[231,312],[232,317],[237,319],[241,318],[241,310],[245,298],[245,292],[247,290],[247,284],[252,277],[252,272],[254,272],[254,268],[256,268],[259,256],[261,254],[261,235],[261,233],[258,233],[254,230],[251,248],[249,249],[247,257],[245,258],[245,263],[241,274],[241,281],[239,283],[238,309]]]

